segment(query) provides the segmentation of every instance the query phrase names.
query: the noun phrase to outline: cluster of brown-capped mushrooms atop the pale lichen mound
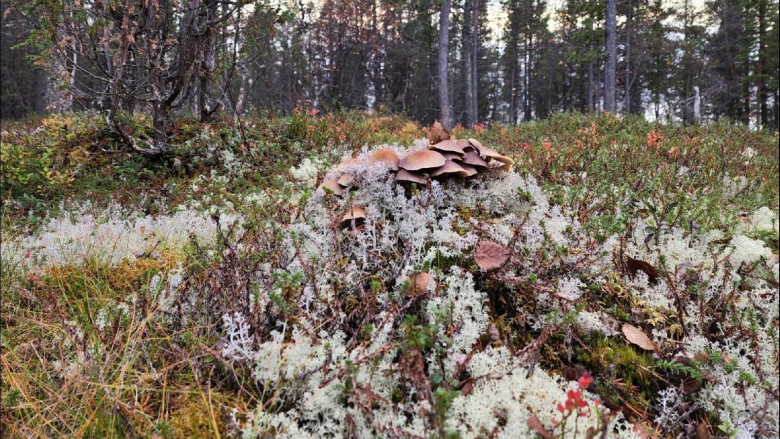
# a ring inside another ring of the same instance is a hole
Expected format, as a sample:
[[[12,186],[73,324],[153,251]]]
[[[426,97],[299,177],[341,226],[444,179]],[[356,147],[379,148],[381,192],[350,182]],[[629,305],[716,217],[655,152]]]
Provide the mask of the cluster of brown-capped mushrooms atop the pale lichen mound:
[[[318,188],[332,191],[334,195],[342,196],[344,189],[352,186],[353,176],[346,173],[349,166],[357,164],[356,157],[346,159],[336,166],[336,172],[341,177],[325,180]],[[449,177],[468,178],[484,173],[493,168],[505,171],[512,169],[515,161],[498,153],[493,148],[487,148],[477,139],[444,140],[427,149],[410,152],[403,159],[390,148],[379,148],[368,155],[368,166],[381,162],[388,170],[395,172],[397,182],[427,184],[430,180],[441,180]]]

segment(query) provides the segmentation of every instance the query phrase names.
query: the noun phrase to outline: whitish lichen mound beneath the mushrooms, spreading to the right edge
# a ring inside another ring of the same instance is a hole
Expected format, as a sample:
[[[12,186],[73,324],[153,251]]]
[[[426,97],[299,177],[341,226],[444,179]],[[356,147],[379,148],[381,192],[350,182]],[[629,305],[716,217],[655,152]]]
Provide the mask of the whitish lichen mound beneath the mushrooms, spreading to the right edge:
[[[398,145],[383,148],[403,155]],[[623,412],[596,405],[597,387],[580,390],[540,366],[545,343],[569,331],[592,334],[604,349],[611,340],[639,349],[622,339],[620,322],[588,303],[594,294],[632,303],[640,323],[653,329],[657,355],[727,352],[742,374],[712,360],[714,380],[690,398],[730,425],[748,426],[761,416],[756,428],[777,429],[771,389],[732,391],[739,377],[774,377],[775,383],[778,377],[771,348],[778,340],[777,264],[771,266],[764,247],[753,248],[754,240],[736,237],[731,247],[718,247],[710,234],[672,228],[651,247],[641,218],[628,234],[597,240],[576,212],[552,204],[534,177],[512,168],[404,187],[388,166],[367,162],[371,153],[363,150],[324,177],[349,173],[341,196],[314,192],[300,219],[278,229],[283,252],[277,263],[259,268],[257,284],[268,288],[254,291],[253,327],[249,316],[225,317],[223,355],[251,362],[264,389],[245,437],[514,438],[534,437],[539,429],[555,437],[584,437],[589,429],[636,437],[640,430]],[[363,208],[360,218],[353,206]],[[345,212],[352,216],[345,219]],[[509,262],[480,269],[473,261],[480,241],[508,249]],[[722,256],[712,258],[714,252]],[[651,283],[643,271],[622,271],[626,255],[660,267],[666,279]],[[752,264],[750,275],[738,273],[730,257]],[[686,284],[686,266],[706,269],[694,269],[697,278]],[[416,287],[421,272],[431,274],[425,291]],[[697,302],[675,300],[680,291],[693,297],[694,288]],[[701,311],[702,303],[717,301],[733,304],[740,316],[755,307],[750,324],[757,348],[739,336],[743,323],[714,322],[717,316]],[[654,312],[661,317],[647,323]],[[511,334],[507,319],[526,333]],[[739,354],[746,348],[761,362]],[[609,361],[623,365],[617,356]],[[600,382],[609,386],[609,364],[581,361],[603,367]],[[587,406],[575,413],[576,423],[563,422],[570,412],[560,404],[567,401]],[[679,409],[661,399],[647,404],[648,410]]]

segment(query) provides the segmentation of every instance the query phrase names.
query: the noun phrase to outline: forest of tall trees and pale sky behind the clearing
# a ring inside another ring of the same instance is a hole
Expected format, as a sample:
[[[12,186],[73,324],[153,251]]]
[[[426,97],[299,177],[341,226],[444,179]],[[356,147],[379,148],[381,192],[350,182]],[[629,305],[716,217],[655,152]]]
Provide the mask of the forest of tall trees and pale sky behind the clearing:
[[[303,103],[445,127],[604,109],[778,129],[771,0],[4,0],[2,10],[4,120],[98,109],[121,131],[122,111],[157,109],[159,132],[172,112],[208,121],[218,109]]]

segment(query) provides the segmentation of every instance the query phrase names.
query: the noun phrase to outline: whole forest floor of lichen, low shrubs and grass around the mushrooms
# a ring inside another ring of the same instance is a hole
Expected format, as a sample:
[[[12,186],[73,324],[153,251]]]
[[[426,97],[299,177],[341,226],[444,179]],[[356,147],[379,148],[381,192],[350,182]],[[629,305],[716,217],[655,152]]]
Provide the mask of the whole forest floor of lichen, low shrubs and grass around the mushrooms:
[[[335,163],[426,131],[171,125],[144,158],[89,114],[4,124],[3,437],[778,435],[776,135],[457,127],[512,172],[403,189],[360,164],[336,198]],[[480,241],[509,262],[480,270]]]

